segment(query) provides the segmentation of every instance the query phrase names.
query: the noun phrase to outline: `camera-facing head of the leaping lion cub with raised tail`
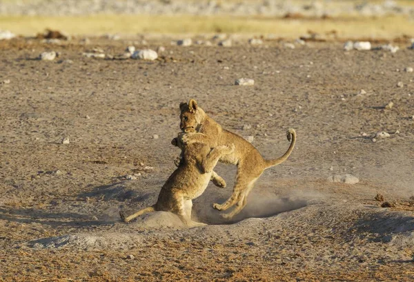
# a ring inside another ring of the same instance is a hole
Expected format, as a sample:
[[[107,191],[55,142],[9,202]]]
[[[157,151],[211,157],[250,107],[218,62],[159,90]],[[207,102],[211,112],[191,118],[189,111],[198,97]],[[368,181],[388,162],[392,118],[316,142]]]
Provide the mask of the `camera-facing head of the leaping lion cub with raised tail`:
[[[180,103],[179,109],[181,110],[179,128],[186,133],[195,131],[206,114],[193,99],[188,103]]]

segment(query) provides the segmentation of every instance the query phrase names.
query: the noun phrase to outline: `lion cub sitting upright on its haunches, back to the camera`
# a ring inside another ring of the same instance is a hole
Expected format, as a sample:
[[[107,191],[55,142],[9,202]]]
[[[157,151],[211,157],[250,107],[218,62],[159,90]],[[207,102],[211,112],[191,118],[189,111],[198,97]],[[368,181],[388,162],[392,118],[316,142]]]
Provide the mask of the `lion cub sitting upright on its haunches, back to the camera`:
[[[199,197],[206,190],[210,179],[215,179],[213,168],[221,157],[233,153],[235,146],[220,145],[213,149],[201,142],[186,144],[182,141],[184,133],[172,139],[172,145],[181,148],[181,161],[178,168],[172,172],[159,192],[158,200],[143,210],[130,216],[120,211],[119,215],[124,222],[131,221],[141,214],[154,211],[173,212],[188,227],[206,225],[191,220],[193,199]]]

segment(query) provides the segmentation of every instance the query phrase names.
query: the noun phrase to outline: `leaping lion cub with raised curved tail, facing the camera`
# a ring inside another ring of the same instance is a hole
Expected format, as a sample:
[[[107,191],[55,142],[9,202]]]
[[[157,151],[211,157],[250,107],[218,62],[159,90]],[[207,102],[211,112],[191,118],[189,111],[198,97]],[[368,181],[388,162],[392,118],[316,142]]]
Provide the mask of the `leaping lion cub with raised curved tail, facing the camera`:
[[[197,106],[195,100],[191,99],[188,103],[181,103],[179,108],[181,110],[179,126],[181,130],[188,132],[182,137],[185,143],[202,142],[208,144],[211,148],[228,143],[235,145],[233,153],[226,154],[226,156],[219,159],[222,163],[237,165],[236,183],[230,199],[221,205],[213,204],[213,208],[217,210],[227,210],[236,204],[236,208],[232,212],[222,215],[224,218],[230,219],[238,214],[246,205],[248,193],[264,170],[286,161],[295,147],[296,132],[289,129],[286,132],[286,137],[288,141],[292,141],[288,150],[278,159],[266,160],[244,138],[225,130],[219,123],[208,117],[206,112]],[[194,130],[199,133],[195,133]]]

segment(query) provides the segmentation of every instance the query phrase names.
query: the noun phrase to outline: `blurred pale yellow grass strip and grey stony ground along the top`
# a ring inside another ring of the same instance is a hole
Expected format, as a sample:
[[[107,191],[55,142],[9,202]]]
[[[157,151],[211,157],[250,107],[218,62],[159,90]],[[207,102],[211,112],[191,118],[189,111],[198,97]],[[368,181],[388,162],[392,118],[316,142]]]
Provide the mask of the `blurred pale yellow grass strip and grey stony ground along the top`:
[[[336,39],[412,37],[414,1],[1,0],[0,30],[68,34],[304,34]],[[8,31],[8,35],[5,33]]]

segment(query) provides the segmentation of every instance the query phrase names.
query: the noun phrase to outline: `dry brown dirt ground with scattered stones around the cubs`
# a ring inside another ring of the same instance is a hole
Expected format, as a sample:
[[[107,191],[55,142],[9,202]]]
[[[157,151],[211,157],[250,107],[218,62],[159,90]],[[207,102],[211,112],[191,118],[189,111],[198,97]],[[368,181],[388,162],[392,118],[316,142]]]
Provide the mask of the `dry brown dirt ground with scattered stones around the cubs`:
[[[125,41],[0,43],[0,81],[10,80],[0,85],[0,281],[413,281],[408,43],[395,54],[335,42],[148,43],[166,46],[163,57],[81,55],[121,54]],[[35,60],[50,49],[60,57]],[[235,86],[242,77],[255,85]],[[166,212],[120,223],[120,209],[155,203],[175,169],[170,140],[190,98],[224,128],[254,136],[266,158],[288,148],[288,128],[297,146],[266,170],[234,221],[211,207],[233,187],[235,167],[219,164],[228,187],[210,184],[194,203],[210,225],[186,229]],[[382,130],[391,137],[373,142]],[[326,181],[348,173],[359,183]],[[395,206],[381,208],[377,193]]]

